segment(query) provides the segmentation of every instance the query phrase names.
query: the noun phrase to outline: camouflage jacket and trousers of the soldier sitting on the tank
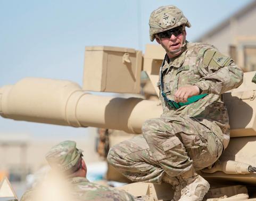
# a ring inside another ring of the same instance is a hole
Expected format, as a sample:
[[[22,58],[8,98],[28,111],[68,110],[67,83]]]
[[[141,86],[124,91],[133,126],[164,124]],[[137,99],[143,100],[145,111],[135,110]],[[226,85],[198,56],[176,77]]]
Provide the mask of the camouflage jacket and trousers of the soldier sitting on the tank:
[[[228,113],[221,94],[243,80],[233,60],[209,44],[187,42],[182,54],[164,58],[162,73],[163,90],[171,100],[184,85],[196,85],[201,94],[208,95],[178,109],[160,96],[163,114],[145,121],[144,138],[111,148],[108,161],[133,181],[160,183],[164,179],[175,184],[175,177],[193,166],[200,170],[213,164],[229,142]]]

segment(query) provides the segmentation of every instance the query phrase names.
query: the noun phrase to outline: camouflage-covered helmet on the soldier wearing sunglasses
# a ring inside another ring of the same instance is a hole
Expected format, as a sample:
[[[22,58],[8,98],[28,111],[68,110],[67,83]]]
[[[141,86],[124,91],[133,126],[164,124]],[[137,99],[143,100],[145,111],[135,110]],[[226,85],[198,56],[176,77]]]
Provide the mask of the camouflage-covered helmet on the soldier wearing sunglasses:
[[[191,23],[189,23],[181,10],[174,5],[161,6],[150,15],[150,40],[153,41],[155,39],[155,34],[174,29],[182,24],[186,27],[191,27]]]

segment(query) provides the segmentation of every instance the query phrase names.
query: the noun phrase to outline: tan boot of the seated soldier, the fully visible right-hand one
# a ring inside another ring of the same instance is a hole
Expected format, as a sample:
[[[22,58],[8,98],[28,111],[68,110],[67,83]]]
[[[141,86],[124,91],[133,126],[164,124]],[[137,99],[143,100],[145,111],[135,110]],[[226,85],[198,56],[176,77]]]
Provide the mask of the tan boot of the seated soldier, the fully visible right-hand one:
[[[179,201],[201,201],[210,189],[208,181],[199,174],[188,178],[179,177],[179,180],[183,187]]]

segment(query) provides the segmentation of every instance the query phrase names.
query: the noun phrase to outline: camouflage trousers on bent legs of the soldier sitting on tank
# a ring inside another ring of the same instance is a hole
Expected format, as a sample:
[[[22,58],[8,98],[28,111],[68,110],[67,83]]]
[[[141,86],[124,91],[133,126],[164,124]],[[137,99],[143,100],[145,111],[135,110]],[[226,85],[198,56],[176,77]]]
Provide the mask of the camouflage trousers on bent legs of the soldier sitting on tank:
[[[210,166],[223,150],[219,138],[192,118],[146,120],[142,131],[143,136],[113,146],[108,155],[109,163],[132,181],[176,186],[178,175]]]

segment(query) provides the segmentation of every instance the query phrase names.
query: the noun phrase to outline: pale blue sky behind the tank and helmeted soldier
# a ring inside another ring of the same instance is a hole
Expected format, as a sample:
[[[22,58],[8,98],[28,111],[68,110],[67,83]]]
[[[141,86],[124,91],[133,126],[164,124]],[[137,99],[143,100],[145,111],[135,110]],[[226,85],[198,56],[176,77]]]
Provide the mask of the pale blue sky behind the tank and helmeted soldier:
[[[150,13],[176,5],[191,22],[196,40],[251,0],[0,0],[0,87],[24,77],[64,79],[82,85],[86,46],[145,51]],[[155,42],[154,42],[155,43]],[[18,122],[0,117],[2,133],[87,136],[88,129]]]

